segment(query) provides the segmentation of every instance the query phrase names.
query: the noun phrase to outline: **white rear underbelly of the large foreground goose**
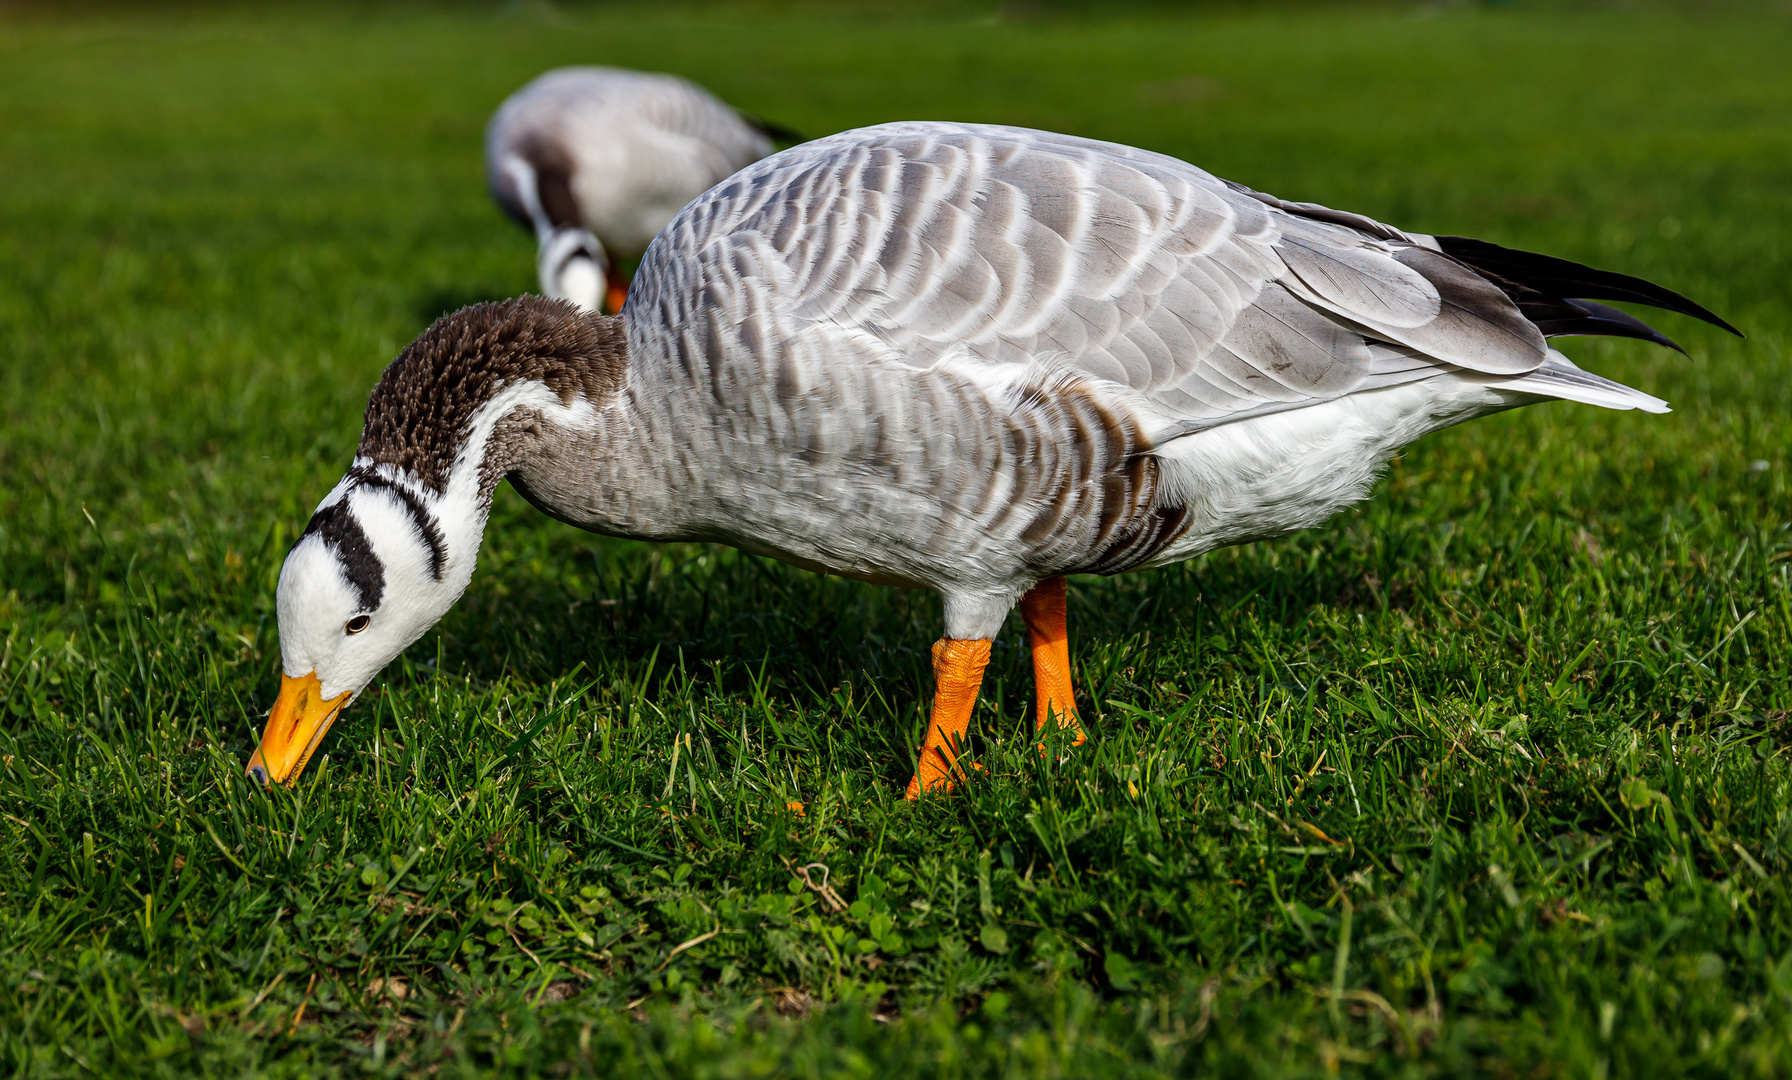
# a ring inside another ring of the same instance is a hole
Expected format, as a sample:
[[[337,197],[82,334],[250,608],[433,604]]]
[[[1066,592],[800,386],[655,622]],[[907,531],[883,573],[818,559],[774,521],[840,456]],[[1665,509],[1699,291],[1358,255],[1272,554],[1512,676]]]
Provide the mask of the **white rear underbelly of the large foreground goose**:
[[[1326,521],[1362,501],[1401,446],[1536,401],[1455,374],[1236,421],[1154,450],[1186,532],[1142,566],[1179,562]]]

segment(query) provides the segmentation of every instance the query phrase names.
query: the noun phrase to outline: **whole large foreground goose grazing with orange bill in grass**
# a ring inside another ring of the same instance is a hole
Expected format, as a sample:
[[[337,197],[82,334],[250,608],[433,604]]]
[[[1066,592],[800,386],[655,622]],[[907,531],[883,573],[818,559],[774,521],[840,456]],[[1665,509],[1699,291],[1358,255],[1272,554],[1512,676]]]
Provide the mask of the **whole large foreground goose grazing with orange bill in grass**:
[[[1595,299],[1588,299],[1595,297]],[[1563,398],[1665,412],[1559,335],[1672,344],[1665,288],[1285,202],[1084,138],[887,124],[738,172],[654,240],[620,317],[446,315],[385,369],[280,575],[249,772],[297,776],[473,575],[491,493],[944,600],[909,795],[950,788],[1018,602],[1036,722],[1081,741],[1064,575],[1324,521],[1401,446]]]

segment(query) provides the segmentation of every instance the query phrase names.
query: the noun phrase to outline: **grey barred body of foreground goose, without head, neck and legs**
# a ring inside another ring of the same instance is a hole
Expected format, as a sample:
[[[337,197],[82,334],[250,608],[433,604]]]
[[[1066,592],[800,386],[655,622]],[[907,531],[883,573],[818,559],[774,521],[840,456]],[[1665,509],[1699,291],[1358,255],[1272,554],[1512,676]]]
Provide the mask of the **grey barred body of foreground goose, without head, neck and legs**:
[[[1665,408],[1432,236],[1005,127],[744,168],[654,242],[625,322],[634,467],[679,493],[625,519],[935,587],[948,632],[1039,577],[1312,525],[1400,444],[1527,396]]]

